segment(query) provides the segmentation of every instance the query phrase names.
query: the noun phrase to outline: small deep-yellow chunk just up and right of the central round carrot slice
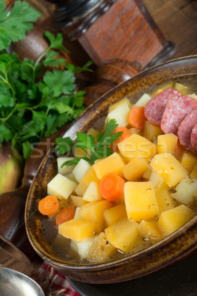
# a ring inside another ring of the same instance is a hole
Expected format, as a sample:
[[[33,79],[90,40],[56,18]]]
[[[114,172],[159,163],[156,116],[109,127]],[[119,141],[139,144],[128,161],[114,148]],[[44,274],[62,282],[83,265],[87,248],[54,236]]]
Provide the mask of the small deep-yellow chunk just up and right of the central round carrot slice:
[[[143,176],[147,165],[148,163],[144,158],[135,157],[126,164],[122,171],[128,181],[134,181]]]

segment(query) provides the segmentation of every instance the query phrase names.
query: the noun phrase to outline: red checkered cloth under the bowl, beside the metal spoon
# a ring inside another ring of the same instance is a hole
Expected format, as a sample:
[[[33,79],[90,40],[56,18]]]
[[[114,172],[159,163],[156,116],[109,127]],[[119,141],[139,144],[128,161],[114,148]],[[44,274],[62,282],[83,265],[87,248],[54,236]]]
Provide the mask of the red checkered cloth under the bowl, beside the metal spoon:
[[[41,286],[43,291],[45,290],[44,286],[46,286],[47,283],[47,292],[46,290],[44,291],[46,296],[79,296],[79,294],[72,289],[66,280],[66,277],[47,263],[42,263],[39,268],[39,275],[42,278],[43,285]]]

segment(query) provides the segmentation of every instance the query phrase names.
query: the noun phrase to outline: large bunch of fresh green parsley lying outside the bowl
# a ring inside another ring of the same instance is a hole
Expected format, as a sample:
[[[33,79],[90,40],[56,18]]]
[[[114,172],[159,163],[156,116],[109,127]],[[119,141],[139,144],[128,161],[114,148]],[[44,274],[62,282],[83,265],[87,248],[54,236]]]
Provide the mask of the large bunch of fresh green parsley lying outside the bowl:
[[[57,131],[66,122],[75,119],[83,110],[84,91],[76,92],[75,73],[90,71],[88,62],[84,67],[74,67],[66,59],[58,58],[63,46],[62,34],[57,37],[49,32],[48,48],[36,62],[25,58],[21,61],[16,53],[4,50],[12,41],[25,37],[33,28],[39,13],[27,2],[16,1],[10,14],[0,0],[0,142],[11,141],[28,158],[31,144],[39,142]],[[2,12],[2,14],[1,14]],[[47,70],[48,66],[62,69]],[[42,78],[39,78],[43,73]]]

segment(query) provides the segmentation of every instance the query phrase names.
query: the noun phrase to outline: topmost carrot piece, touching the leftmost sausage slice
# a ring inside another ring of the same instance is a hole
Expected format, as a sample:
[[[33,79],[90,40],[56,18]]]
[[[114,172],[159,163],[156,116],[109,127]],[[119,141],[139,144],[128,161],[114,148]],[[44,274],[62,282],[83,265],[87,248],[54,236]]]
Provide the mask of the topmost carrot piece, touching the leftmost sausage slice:
[[[129,113],[129,123],[131,126],[142,129],[145,124],[144,107],[136,106]]]

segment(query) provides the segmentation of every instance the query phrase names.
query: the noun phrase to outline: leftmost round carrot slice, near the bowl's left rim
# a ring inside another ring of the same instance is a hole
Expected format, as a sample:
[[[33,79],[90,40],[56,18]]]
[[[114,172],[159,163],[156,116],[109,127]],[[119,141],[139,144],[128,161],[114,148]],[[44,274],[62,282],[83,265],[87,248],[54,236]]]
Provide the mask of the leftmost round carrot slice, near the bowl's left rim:
[[[38,210],[41,214],[51,216],[59,210],[58,199],[55,195],[47,195],[39,201]]]

